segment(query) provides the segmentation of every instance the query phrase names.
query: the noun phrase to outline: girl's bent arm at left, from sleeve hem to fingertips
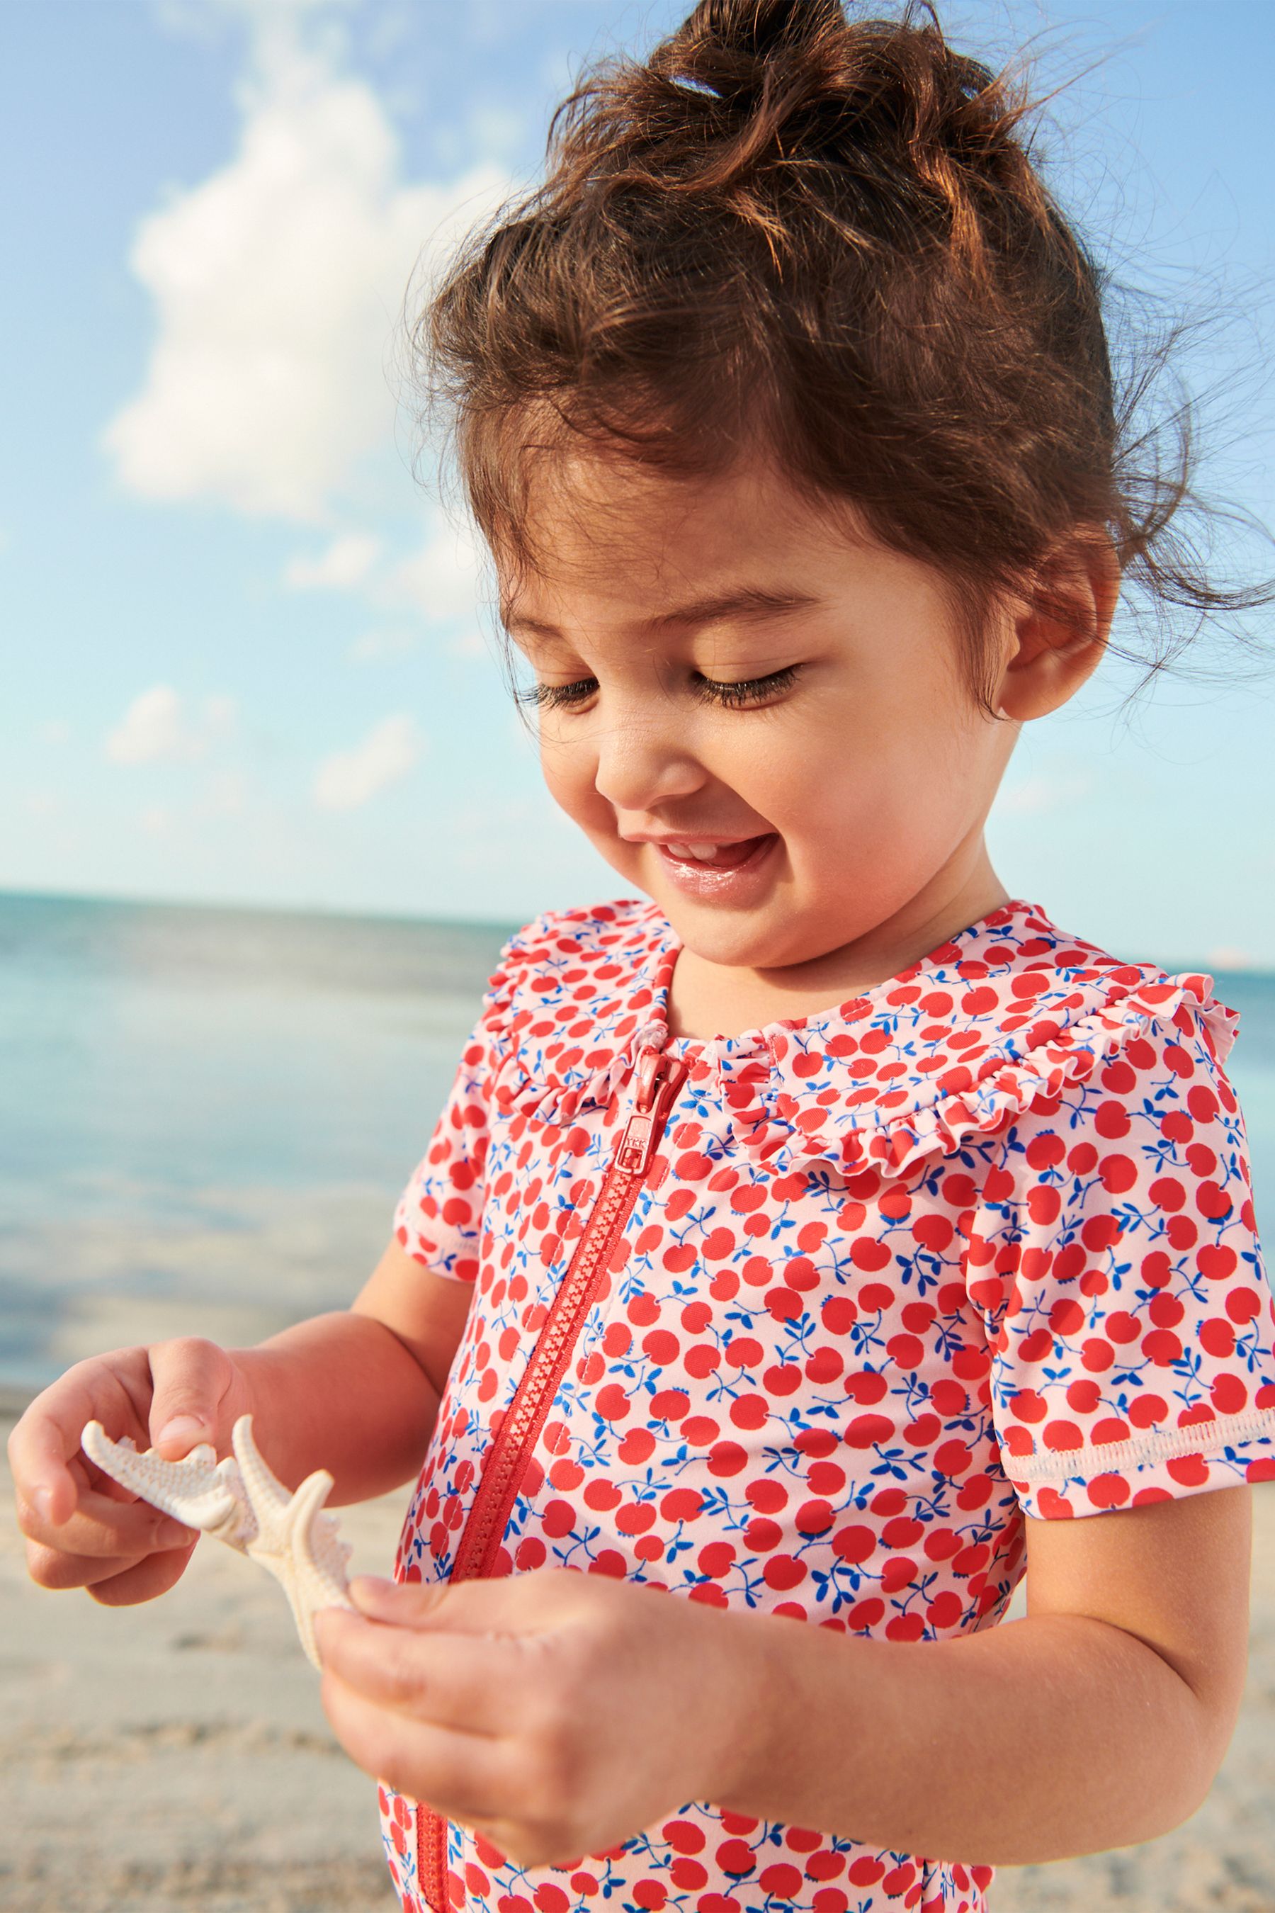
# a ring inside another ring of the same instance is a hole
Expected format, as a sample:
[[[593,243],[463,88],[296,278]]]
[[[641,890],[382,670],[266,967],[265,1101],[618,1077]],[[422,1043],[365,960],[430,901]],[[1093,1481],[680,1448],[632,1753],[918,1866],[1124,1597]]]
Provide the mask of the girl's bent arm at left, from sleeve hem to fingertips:
[[[250,1412],[266,1460],[291,1488],[315,1467],[335,1475],[336,1504],[407,1481],[470,1299],[470,1284],[436,1276],[392,1242],[352,1308],[254,1349],[227,1354],[185,1337],[76,1362],[10,1435],[32,1580],[88,1588],[105,1605],[149,1601],[180,1578],[197,1540],[90,1467],[80,1454],[88,1419],[176,1460],[195,1440],[227,1454],[235,1419]]]

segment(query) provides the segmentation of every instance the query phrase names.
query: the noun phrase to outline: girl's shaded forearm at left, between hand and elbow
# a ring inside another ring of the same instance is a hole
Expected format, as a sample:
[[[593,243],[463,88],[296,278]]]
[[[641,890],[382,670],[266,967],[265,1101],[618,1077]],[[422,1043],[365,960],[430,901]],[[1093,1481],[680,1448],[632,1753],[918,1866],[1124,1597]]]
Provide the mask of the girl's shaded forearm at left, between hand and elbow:
[[[335,1310],[229,1354],[252,1391],[256,1442],[285,1486],[325,1467],[338,1506],[398,1488],[421,1467],[438,1391],[384,1322]]]

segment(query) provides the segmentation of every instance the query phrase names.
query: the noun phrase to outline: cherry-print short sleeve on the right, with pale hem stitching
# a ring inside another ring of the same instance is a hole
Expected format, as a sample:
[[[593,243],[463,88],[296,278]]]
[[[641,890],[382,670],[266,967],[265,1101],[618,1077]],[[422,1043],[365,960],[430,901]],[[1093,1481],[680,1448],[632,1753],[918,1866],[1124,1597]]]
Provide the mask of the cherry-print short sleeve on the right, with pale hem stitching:
[[[1149,1020],[1015,1119],[967,1280],[1025,1513],[1275,1479],[1275,1303],[1243,1113],[1199,1010]]]

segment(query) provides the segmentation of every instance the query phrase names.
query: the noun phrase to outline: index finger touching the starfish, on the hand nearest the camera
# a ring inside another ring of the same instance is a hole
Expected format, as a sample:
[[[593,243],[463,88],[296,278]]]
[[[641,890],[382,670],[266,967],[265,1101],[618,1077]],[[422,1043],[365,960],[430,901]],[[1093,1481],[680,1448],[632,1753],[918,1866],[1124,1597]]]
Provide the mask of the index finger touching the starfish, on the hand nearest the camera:
[[[526,1657],[516,1639],[421,1634],[338,1607],[315,1615],[325,1670],[377,1706],[465,1733],[508,1733],[520,1720]]]

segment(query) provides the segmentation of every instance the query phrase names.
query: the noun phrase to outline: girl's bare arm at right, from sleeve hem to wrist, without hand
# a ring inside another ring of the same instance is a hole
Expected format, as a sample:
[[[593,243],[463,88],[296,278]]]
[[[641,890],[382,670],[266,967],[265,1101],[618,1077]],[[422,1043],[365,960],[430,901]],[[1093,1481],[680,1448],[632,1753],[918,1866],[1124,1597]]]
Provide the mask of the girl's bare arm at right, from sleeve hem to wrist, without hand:
[[[1009,1867],[1181,1825],[1241,1706],[1252,1488],[1026,1534],[1028,1615],[981,1634],[872,1641],[740,1616],[747,1754],[711,1798]]]

